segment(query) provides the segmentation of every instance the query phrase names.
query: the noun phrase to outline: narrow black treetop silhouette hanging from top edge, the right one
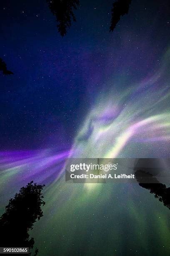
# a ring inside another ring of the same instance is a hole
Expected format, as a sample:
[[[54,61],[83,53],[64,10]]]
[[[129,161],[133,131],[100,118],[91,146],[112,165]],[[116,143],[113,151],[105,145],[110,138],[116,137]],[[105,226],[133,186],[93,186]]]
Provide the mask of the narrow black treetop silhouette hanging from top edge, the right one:
[[[117,0],[115,3],[113,3],[110,31],[115,29],[116,24],[120,20],[120,16],[128,14],[131,2],[132,0]]]

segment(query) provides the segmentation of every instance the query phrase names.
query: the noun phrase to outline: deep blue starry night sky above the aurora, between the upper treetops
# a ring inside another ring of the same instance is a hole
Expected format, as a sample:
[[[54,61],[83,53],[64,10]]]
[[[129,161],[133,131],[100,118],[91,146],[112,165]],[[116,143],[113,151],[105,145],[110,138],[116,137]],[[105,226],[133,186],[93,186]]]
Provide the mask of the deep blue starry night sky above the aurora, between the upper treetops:
[[[81,1],[62,38],[45,1],[2,2],[0,56],[14,75],[0,77],[1,149],[71,146],[99,93],[157,71],[170,41],[168,5],[133,1],[109,33],[112,1]]]

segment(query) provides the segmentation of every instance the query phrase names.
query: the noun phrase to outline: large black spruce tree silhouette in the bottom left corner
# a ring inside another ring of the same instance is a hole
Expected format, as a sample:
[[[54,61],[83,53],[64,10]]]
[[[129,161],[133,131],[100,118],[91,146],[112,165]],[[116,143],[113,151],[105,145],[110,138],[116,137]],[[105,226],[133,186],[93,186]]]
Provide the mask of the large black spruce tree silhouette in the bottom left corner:
[[[29,230],[36,220],[43,216],[41,205],[45,205],[41,193],[45,185],[28,183],[19,193],[11,198],[0,218],[0,247],[29,247],[33,248],[34,238],[30,238]],[[38,249],[35,250],[37,255]],[[30,252],[29,252],[30,255]]]

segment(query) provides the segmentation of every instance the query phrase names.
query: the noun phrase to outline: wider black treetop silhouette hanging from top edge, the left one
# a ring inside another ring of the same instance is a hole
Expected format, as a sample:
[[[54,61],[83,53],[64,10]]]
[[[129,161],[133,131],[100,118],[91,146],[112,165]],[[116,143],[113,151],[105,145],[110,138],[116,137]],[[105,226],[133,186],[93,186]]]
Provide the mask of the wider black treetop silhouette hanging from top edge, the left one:
[[[67,28],[71,26],[71,20],[76,21],[73,9],[79,7],[79,0],[47,0],[51,12],[57,20],[58,32],[65,36]]]

